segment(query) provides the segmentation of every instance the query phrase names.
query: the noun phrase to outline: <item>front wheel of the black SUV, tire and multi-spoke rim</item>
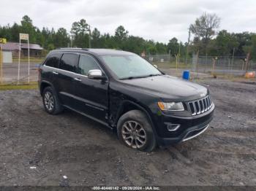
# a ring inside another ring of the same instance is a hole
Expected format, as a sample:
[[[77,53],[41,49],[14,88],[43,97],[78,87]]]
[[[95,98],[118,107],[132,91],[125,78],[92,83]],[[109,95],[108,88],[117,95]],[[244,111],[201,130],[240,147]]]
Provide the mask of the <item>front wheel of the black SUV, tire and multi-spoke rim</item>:
[[[132,149],[151,152],[157,146],[148,117],[140,110],[129,111],[120,117],[117,134],[121,143]]]

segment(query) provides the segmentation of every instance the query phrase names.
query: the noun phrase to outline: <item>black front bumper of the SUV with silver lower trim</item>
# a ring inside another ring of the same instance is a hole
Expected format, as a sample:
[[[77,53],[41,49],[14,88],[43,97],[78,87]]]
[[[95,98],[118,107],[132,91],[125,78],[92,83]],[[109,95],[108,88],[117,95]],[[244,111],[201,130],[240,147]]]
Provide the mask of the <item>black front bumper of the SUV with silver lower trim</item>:
[[[214,106],[208,112],[196,117],[163,115],[157,123],[157,143],[159,146],[167,146],[195,138],[208,128],[213,116]],[[167,130],[166,122],[181,124],[181,127],[175,131],[169,131]]]

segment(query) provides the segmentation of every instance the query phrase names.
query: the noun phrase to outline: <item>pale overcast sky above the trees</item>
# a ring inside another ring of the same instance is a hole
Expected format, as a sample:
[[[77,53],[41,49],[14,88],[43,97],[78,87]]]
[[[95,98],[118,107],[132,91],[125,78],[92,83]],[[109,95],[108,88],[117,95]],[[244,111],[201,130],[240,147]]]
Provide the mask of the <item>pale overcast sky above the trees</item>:
[[[29,15],[42,29],[64,27],[86,19],[92,28],[114,34],[122,25],[130,35],[168,42],[187,41],[188,27],[203,12],[221,17],[219,30],[256,32],[256,0],[1,0],[0,25],[20,23]]]

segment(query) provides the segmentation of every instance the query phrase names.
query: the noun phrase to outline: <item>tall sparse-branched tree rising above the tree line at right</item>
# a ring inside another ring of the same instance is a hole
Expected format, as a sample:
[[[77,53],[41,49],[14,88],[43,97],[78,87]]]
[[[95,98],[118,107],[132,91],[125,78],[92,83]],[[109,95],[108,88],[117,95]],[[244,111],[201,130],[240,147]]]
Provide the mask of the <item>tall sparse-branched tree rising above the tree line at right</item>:
[[[190,26],[192,34],[195,34],[195,42],[200,42],[207,53],[207,46],[212,36],[216,33],[215,29],[219,28],[220,18],[216,14],[204,12],[203,15],[195,20]],[[200,46],[200,45],[199,45]]]

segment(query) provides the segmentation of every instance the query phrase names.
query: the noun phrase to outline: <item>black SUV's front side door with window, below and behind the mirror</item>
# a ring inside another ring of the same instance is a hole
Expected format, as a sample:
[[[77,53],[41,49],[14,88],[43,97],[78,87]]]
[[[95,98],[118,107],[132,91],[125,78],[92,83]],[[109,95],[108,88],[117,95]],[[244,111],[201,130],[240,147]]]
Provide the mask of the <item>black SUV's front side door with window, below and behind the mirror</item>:
[[[75,96],[77,109],[102,122],[108,121],[108,80],[89,79],[88,72],[101,69],[91,55],[80,55],[78,74],[75,76]],[[102,70],[104,74],[104,71]]]

